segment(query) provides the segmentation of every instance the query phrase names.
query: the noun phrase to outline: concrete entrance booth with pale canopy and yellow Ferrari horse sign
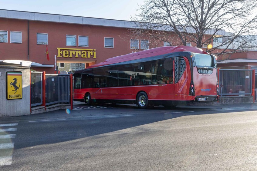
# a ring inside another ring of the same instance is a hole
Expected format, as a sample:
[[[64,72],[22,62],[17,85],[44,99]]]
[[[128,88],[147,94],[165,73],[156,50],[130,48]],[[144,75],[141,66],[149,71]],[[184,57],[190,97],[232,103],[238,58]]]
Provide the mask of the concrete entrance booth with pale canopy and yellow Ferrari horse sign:
[[[30,114],[31,64],[29,61],[0,60],[0,117]]]

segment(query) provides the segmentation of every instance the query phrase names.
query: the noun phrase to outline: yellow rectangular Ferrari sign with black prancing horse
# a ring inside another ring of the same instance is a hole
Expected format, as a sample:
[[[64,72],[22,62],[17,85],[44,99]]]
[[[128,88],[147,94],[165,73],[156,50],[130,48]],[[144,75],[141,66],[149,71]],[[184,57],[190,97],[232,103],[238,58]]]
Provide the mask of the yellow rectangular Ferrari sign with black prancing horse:
[[[6,98],[8,100],[22,98],[22,72],[6,72]]]

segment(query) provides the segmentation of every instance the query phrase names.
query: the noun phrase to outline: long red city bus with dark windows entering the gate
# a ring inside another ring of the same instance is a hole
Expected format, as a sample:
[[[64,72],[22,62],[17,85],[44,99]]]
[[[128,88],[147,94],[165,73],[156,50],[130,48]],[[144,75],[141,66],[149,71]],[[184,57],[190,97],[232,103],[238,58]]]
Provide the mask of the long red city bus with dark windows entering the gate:
[[[173,107],[218,100],[217,60],[200,48],[166,46],[109,58],[74,73],[74,101]]]

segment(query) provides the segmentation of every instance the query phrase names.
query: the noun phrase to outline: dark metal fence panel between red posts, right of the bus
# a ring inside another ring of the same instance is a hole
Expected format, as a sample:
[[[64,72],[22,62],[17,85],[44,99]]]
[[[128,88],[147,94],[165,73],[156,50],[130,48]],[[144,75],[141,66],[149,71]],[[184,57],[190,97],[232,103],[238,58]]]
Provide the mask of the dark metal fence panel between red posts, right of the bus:
[[[219,70],[220,95],[252,95],[252,70]]]

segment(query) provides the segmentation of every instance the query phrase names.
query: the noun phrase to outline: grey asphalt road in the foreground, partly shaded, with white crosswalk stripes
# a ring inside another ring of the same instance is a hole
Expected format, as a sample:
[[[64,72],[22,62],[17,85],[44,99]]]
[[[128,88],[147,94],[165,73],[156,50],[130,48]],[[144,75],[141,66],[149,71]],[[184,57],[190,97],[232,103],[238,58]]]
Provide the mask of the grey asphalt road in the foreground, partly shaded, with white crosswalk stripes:
[[[0,170],[257,170],[256,104],[76,107],[0,119]]]

